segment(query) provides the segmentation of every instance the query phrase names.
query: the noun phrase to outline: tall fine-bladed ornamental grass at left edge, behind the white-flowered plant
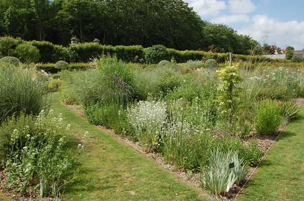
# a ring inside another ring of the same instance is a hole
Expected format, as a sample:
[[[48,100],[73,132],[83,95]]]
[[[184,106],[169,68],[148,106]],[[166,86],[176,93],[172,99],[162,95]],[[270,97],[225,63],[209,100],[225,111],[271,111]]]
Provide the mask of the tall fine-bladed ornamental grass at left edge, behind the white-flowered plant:
[[[0,63],[0,122],[5,118],[38,114],[46,105],[44,73]]]

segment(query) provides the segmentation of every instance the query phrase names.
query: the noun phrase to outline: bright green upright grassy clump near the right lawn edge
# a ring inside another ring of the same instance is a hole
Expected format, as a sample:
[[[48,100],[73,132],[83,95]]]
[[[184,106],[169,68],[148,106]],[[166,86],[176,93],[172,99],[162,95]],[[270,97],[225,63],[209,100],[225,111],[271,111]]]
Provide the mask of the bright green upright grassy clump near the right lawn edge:
[[[254,123],[258,135],[274,134],[282,123],[281,108],[275,101],[261,101],[256,110]]]

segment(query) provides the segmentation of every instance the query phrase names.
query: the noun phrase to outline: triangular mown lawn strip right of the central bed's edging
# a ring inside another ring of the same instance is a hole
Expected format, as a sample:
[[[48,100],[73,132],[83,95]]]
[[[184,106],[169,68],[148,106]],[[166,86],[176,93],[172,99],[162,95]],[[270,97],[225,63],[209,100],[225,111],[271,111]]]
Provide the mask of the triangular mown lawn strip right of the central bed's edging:
[[[304,200],[304,105],[237,200]]]

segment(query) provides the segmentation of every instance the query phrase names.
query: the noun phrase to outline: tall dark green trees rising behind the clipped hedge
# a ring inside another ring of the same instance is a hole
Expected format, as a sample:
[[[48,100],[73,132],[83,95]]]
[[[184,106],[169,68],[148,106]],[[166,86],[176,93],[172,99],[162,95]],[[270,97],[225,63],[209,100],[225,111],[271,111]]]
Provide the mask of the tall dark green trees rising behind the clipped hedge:
[[[260,44],[202,20],[182,0],[2,0],[0,35],[67,45],[164,45],[177,50],[251,54]]]

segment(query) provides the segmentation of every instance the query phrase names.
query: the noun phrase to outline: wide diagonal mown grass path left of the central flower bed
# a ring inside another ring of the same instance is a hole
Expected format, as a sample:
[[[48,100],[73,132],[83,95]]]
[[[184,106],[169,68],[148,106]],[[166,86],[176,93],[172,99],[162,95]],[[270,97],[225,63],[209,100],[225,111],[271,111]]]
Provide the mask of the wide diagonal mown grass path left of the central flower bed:
[[[196,189],[178,176],[93,126],[60,103],[57,93],[52,109],[61,112],[72,133],[90,132],[92,142],[79,158],[75,182],[67,187],[66,200],[208,200],[207,192]],[[71,145],[77,147],[76,137]]]

